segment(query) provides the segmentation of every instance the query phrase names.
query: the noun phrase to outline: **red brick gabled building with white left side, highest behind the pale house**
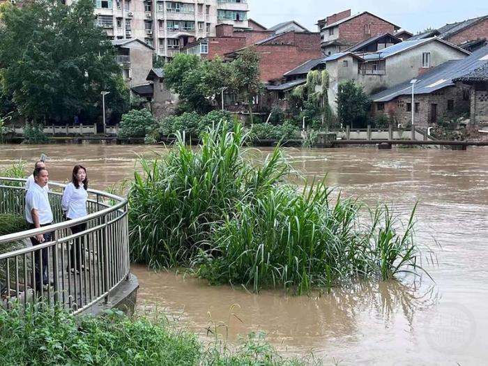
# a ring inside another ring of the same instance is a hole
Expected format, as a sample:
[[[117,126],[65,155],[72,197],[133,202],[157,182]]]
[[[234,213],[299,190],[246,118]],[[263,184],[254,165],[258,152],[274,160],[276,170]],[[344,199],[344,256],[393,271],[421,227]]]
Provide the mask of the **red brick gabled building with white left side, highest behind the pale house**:
[[[343,51],[379,34],[396,33],[400,27],[367,11],[351,15],[351,10],[330,15],[317,23],[323,54]]]

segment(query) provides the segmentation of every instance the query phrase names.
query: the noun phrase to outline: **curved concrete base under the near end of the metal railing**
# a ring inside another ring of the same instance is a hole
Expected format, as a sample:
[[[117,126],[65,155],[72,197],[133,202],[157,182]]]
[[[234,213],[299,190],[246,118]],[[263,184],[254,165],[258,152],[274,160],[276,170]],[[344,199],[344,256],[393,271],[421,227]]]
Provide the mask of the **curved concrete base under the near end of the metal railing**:
[[[100,314],[100,312],[107,309],[116,309],[121,310],[130,317],[135,312],[138,289],[139,280],[131,273],[129,280],[122,281],[119,286],[110,291],[107,303],[105,303],[105,300],[100,300],[84,310],[82,314]]]

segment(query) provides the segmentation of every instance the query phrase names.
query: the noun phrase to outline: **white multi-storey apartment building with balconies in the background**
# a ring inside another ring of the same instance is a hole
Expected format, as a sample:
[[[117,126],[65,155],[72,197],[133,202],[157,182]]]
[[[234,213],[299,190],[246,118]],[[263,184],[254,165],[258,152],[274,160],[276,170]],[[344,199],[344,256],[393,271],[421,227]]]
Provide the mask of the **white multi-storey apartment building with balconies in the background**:
[[[95,6],[109,39],[139,38],[169,58],[191,38],[215,36],[217,24],[248,26],[247,0],[96,0]]]

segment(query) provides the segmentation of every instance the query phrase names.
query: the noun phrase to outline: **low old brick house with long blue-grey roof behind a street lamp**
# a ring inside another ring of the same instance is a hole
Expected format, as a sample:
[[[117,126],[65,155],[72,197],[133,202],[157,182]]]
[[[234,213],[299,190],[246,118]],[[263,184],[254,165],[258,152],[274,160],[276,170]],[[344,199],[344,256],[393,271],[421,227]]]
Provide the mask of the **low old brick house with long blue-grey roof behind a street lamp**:
[[[488,48],[479,49],[465,59],[447,61],[422,73],[415,77],[414,84],[408,80],[376,93],[371,97],[372,113],[384,114],[396,123],[408,125],[412,121],[413,109],[414,124],[420,127],[433,125],[441,119],[468,114],[470,104],[475,102],[472,100],[473,92],[457,79],[480,68],[487,61]],[[481,108],[485,106],[483,103],[486,95],[486,91],[475,93],[480,98]],[[485,113],[482,110],[480,109],[480,114]]]

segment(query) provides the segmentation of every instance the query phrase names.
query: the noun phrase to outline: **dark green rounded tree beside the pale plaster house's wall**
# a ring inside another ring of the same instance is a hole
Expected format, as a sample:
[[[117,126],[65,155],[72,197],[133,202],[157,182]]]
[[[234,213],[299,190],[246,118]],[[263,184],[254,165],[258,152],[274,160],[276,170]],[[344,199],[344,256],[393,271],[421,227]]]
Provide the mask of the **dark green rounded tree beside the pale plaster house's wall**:
[[[343,125],[351,125],[351,128],[364,128],[367,124],[367,113],[371,106],[371,100],[363,91],[362,86],[349,80],[339,85],[337,92],[337,114]]]

